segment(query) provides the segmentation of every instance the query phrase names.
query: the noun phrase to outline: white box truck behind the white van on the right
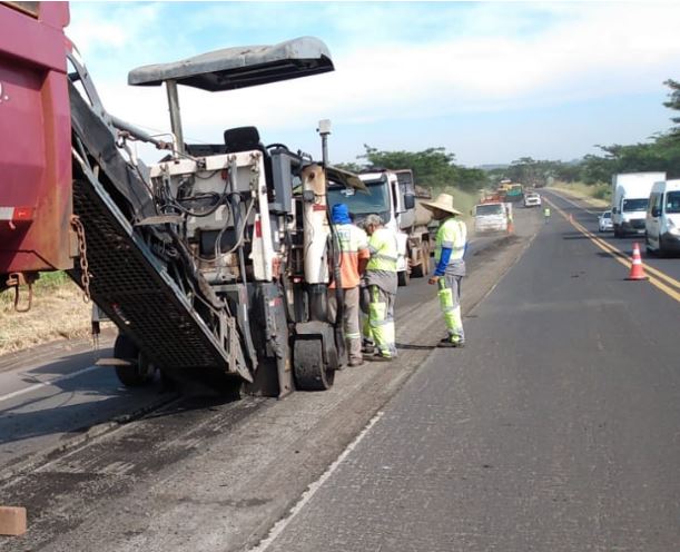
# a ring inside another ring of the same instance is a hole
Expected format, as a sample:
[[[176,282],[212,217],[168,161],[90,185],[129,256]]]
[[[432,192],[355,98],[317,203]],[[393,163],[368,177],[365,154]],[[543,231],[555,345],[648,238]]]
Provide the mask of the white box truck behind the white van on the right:
[[[612,176],[612,221],[614,236],[644,234],[649,195],[654,183],[666,180],[666,172],[624,172]]]

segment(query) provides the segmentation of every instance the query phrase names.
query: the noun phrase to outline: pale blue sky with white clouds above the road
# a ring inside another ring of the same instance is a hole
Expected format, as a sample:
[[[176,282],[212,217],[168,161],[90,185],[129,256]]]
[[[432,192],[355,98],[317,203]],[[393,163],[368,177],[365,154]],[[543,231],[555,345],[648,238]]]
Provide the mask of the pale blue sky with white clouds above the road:
[[[157,131],[160,88],[127,71],[231,46],[315,36],[335,72],[235,92],[180,91],[185,134],[219,140],[256,125],[264,141],[331,158],[363,144],[444,146],[460,162],[570,160],[594,145],[668,129],[667,78],[680,79],[673,2],[71,2],[67,32],[115,115]],[[146,157],[146,155],[145,155]]]

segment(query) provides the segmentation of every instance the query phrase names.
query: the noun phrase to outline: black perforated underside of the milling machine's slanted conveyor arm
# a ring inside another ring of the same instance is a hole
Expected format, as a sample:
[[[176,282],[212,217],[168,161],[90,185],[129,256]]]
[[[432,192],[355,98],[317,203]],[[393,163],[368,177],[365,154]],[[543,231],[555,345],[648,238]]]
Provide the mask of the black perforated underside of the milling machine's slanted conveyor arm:
[[[85,227],[91,297],[121,332],[162,369],[225,374],[228,352],[99,183],[76,179],[73,211]]]

